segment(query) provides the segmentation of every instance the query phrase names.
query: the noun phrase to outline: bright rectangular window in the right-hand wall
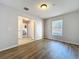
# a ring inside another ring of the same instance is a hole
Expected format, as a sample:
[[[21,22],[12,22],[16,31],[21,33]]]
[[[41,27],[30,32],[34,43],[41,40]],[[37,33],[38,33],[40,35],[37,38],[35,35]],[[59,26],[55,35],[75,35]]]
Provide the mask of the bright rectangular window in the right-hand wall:
[[[52,35],[62,36],[63,35],[63,20],[52,21]]]

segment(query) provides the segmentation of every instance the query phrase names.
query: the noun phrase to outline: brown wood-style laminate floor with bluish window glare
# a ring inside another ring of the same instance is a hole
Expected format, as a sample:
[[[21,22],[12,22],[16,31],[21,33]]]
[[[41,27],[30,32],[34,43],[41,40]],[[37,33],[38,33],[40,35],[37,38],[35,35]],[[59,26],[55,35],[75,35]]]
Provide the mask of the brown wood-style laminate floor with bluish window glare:
[[[39,40],[0,52],[0,59],[79,59],[79,46]]]

